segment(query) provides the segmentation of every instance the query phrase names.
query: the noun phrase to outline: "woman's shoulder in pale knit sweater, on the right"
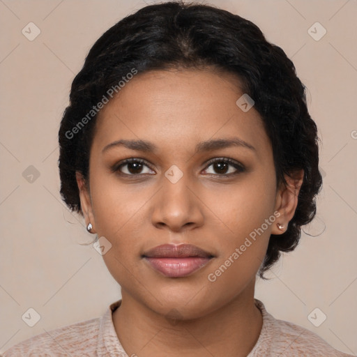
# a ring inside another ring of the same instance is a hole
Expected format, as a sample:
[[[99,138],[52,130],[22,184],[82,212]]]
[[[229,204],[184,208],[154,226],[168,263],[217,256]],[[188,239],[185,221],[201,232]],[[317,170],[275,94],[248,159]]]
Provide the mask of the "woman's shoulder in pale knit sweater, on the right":
[[[264,356],[275,356],[278,353],[279,356],[289,357],[353,357],[337,351],[319,335],[307,328],[275,319],[266,312],[264,304],[257,299],[256,305],[263,315],[263,327],[257,344],[257,352],[264,351]]]

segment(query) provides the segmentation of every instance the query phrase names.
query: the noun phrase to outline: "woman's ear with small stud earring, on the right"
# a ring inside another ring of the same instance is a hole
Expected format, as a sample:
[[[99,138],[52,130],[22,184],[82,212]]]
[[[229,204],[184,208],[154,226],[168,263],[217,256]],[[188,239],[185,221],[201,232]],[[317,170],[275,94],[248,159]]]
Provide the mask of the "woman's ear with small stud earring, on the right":
[[[282,234],[287,230],[289,221],[294,217],[296,206],[298,205],[298,194],[303,185],[304,170],[300,169],[290,173],[290,176],[284,175],[287,185],[280,184],[280,188],[275,197],[275,211],[280,213],[276,222],[284,225],[283,229],[279,229],[275,224],[271,230],[271,234]]]

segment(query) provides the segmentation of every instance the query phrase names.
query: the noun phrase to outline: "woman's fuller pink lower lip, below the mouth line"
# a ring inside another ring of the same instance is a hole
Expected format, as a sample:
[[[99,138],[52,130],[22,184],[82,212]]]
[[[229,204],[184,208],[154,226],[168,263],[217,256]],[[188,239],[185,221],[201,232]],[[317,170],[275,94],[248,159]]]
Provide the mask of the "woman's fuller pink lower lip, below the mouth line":
[[[205,266],[211,258],[188,257],[188,258],[152,258],[145,257],[146,261],[163,275],[169,278],[182,278]]]

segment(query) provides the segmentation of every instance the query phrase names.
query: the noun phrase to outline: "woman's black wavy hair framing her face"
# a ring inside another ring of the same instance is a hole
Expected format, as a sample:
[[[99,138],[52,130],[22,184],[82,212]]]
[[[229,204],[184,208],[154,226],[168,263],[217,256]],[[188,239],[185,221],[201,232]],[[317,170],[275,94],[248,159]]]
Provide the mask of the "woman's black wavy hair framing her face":
[[[207,67],[238,77],[240,89],[255,100],[273,147],[277,185],[287,184],[284,174],[304,170],[287,231],[270,236],[259,269],[265,279],[264,272],[281,252],[296,248],[301,226],[316,214],[315,196],[322,185],[319,138],[294,63],[280,47],[268,43],[255,24],[227,10],[182,1],[154,4],[124,17],[98,38],[73,79],[70,103],[59,128],[61,197],[71,211],[83,215],[75,172],[82,173],[89,187],[89,153],[97,114],[89,120],[88,113],[108,89],[117,86],[132,68],[144,73]],[[86,125],[79,128],[81,121]]]

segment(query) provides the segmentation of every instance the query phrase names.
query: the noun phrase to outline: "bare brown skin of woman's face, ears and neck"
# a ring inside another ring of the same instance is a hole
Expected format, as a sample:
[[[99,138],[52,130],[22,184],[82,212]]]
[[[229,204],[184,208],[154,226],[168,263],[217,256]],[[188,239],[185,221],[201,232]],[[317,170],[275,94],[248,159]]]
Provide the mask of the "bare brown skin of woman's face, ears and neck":
[[[253,300],[256,273],[270,235],[282,234],[294,216],[303,172],[276,189],[271,142],[254,107],[243,112],[236,105],[242,95],[231,74],[155,70],[136,75],[99,114],[90,189],[78,172],[77,183],[86,225],[91,222],[91,232],[112,244],[103,259],[121,285],[113,321],[129,356],[247,356],[257,342],[262,318]],[[255,150],[231,146],[195,154],[198,142],[231,137]],[[119,139],[146,140],[158,151],[116,146],[102,153]],[[144,159],[150,167],[110,171],[126,158]],[[231,158],[245,171],[227,163],[222,172],[206,163],[214,158]],[[176,183],[165,176],[172,165],[183,174]],[[279,218],[209,281],[208,274],[274,212]],[[197,245],[214,258],[188,277],[167,278],[142,258],[164,243]]]

